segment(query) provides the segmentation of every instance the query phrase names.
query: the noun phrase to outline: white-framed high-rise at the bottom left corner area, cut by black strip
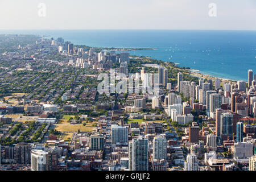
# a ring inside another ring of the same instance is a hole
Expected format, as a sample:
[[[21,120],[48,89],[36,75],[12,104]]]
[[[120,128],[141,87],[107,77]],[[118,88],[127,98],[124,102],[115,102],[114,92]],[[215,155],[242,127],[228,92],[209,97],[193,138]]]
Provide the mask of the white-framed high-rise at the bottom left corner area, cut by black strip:
[[[31,170],[48,171],[48,152],[43,150],[31,151]]]

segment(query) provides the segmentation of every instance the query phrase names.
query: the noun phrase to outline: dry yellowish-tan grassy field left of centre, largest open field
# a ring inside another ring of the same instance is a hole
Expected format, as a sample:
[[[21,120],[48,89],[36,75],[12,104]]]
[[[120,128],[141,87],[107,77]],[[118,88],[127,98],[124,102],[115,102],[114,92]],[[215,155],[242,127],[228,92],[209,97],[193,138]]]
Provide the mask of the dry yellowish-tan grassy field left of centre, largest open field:
[[[96,122],[94,122],[96,123]],[[61,132],[77,132],[80,130],[81,132],[91,132],[93,130],[93,123],[86,123],[86,126],[82,124],[79,125],[71,125],[71,124],[58,124],[55,127],[55,130]]]

